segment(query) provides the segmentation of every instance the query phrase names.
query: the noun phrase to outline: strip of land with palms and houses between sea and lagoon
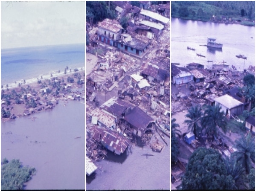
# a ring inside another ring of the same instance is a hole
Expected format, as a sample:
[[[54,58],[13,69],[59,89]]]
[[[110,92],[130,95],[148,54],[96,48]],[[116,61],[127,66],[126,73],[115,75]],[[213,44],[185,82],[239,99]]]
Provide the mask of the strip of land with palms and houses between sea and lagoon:
[[[50,72],[43,79],[29,79],[2,88],[2,121],[52,109],[59,100],[84,99],[85,71],[82,67],[77,70],[66,74]]]

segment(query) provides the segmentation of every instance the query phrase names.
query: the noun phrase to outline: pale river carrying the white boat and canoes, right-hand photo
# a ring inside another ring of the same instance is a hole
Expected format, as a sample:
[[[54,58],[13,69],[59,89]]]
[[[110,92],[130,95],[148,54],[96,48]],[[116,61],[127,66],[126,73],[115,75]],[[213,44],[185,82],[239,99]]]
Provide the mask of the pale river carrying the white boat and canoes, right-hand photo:
[[[171,32],[171,62],[181,66],[195,62],[210,67],[212,62],[227,62],[235,65],[237,70],[255,66],[255,27],[237,24],[211,23],[202,21],[182,20],[172,18]],[[217,43],[223,44],[222,49],[207,48],[207,38],[216,38]],[[187,47],[195,48],[195,51]],[[206,56],[198,57],[196,53]],[[245,55],[247,60],[236,58]]]

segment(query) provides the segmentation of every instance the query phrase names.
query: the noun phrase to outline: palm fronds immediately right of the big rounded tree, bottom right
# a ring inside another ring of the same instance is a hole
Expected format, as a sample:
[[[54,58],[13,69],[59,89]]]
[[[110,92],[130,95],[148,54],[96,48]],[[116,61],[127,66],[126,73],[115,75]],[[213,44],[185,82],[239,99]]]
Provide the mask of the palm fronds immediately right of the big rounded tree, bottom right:
[[[231,154],[230,157],[224,159],[224,163],[227,169],[227,175],[231,175],[235,181],[233,189],[247,189],[247,177],[245,175],[245,169],[241,163]]]

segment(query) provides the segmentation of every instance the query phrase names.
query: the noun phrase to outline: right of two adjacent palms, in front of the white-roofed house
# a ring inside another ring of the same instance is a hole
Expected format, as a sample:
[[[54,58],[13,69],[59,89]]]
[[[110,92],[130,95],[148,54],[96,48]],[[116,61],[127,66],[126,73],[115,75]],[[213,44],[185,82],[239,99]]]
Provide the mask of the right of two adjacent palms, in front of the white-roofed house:
[[[221,111],[221,107],[208,105],[204,111],[204,116],[201,121],[202,127],[206,128],[208,134],[214,133],[217,136],[218,128],[221,128],[224,133],[227,132],[227,117]]]

